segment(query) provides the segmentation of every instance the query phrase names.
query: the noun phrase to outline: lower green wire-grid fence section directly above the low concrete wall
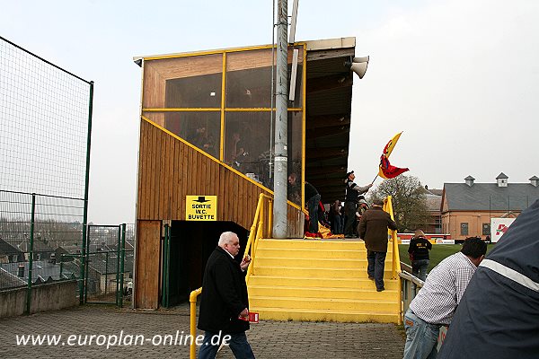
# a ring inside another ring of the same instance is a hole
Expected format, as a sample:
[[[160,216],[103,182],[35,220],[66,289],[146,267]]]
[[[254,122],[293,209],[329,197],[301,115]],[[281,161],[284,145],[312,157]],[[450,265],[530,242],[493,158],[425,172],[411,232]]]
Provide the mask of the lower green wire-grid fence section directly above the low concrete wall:
[[[82,199],[0,190],[0,290],[80,279],[83,215]]]

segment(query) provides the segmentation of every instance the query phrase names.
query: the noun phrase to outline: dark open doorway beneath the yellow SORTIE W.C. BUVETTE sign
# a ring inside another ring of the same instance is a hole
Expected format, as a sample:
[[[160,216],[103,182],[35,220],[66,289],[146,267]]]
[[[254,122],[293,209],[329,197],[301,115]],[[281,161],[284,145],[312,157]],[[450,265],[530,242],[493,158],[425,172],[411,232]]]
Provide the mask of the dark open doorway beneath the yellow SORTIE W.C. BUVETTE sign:
[[[202,285],[209,255],[215,250],[222,232],[235,232],[241,250],[249,232],[234,222],[172,221],[169,262],[169,305],[189,301],[191,291]]]

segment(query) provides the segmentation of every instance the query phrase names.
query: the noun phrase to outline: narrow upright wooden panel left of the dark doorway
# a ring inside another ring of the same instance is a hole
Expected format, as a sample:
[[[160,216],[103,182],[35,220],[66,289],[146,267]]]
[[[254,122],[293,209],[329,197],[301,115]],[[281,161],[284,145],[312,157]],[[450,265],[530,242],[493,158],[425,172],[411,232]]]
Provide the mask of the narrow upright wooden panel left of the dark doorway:
[[[137,221],[137,263],[135,273],[135,308],[157,309],[161,221]]]

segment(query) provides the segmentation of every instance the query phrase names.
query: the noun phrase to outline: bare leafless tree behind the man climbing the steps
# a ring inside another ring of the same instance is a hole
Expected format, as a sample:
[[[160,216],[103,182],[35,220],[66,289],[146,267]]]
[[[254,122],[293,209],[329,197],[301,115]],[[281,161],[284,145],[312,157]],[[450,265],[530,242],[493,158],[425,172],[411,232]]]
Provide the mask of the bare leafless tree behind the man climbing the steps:
[[[392,197],[393,215],[399,232],[413,232],[424,229],[429,216],[425,188],[414,176],[397,176],[384,180],[370,192],[369,199]]]

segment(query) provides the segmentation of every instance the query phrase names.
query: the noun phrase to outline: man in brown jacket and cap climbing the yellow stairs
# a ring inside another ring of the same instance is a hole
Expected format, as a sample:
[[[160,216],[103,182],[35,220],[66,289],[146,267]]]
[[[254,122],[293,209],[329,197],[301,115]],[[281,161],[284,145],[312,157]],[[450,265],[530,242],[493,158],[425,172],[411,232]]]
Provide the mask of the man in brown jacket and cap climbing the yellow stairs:
[[[382,209],[384,201],[375,199],[371,209],[361,216],[359,221],[359,238],[365,241],[367,248],[367,275],[374,279],[376,291],[384,291],[384,267],[387,254],[387,229],[396,231],[397,224]]]

